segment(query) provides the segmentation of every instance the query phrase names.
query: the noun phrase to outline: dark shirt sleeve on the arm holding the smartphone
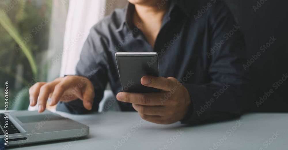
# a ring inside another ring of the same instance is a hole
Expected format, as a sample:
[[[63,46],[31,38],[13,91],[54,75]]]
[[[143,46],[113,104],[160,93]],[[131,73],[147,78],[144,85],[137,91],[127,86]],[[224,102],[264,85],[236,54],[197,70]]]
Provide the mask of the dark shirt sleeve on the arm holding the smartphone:
[[[224,2],[218,1],[210,8],[207,24],[211,30],[211,48],[206,50],[212,81],[203,85],[184,83],[191,105],[181,123],[220,121],[245,113],[253,99],[244,36],[240,26]],[[208,12],[206,12],[208,13]]]

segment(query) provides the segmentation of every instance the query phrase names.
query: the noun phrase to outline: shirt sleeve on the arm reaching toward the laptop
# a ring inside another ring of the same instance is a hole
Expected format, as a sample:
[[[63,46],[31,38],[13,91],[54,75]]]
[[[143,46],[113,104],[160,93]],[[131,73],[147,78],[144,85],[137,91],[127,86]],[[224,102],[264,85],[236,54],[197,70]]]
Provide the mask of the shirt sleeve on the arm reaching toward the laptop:
[[[96,30],[96,26],[97,24],[90,30],[90,34],[84,43],[75,74],[88,78],[94,86],[95,98],[92,110],[85,109],[83,101],[77,99],[71,102],[58,102],[57,111],[73,114],[98,111],[99,102],[103,98],[103,92],[108,80],[108,58],[107,51],[105,51],[107,49],[107,40]]]

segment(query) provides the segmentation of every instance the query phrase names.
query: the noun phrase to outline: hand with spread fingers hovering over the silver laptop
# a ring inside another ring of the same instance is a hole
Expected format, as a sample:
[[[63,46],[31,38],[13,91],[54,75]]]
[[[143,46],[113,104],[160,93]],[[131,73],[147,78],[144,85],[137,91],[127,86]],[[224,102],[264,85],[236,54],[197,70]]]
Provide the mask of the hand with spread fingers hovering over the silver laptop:
[[[29,89],[30,105],[35,106],[38,100],[38,112],[46,109],[48,97],[51,98],[50,106],[59,101],[70,102],[76,99],[83,100],[86,109],[91,110],[95,96],[91,81],[85,77],[68,75],[57,78],[51,82],[37,82]]]

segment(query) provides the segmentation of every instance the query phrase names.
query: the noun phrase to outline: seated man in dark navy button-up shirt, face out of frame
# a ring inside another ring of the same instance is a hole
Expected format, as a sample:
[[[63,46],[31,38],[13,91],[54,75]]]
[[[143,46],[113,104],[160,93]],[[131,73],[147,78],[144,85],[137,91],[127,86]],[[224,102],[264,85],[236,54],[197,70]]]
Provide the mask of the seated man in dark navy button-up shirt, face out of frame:
[[[247,111],[253,93],[249,68],[242,67],[244,37],[223,1],[128,1],[92,27],[76,75],[31,87],[31,106],[39,96],[43,112],[50,96],[59,111],[97,111],[109,81],[122,111],[136,110],[158,124],[222,120]],[[161,92],[122,92],[116,52],[158,52],[160,77],[145,76],[141,83]]]

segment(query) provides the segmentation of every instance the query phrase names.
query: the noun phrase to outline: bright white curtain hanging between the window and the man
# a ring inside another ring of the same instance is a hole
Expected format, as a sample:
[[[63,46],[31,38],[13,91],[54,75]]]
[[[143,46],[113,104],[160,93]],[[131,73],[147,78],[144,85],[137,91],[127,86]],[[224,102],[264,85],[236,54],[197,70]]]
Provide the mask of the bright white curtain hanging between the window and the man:
[[[103,18],[103,15],[98,15],[103,7],[105,7],[105,0],[69,1],[60,77],[75,74],[75,67],[89,31]]]

